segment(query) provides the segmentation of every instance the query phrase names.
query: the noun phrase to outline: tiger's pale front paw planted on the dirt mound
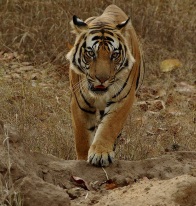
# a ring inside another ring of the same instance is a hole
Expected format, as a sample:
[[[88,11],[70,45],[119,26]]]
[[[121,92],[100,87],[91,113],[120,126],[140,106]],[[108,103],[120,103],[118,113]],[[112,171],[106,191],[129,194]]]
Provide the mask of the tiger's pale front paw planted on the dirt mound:
[[[114,151],[102,145],[91,145],[88,152],[88,162],[99,167],[107,167],[114,161]]]

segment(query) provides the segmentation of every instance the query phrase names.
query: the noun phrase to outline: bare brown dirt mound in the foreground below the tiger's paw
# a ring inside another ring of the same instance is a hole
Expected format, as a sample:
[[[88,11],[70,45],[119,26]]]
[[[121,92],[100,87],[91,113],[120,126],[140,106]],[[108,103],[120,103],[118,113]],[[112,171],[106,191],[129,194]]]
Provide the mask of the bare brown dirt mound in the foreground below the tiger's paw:
[[[0,205],[196,205],[196,152],[116,160],[98,168],[30,152],[17,131],[2,122],[0,142]]]

